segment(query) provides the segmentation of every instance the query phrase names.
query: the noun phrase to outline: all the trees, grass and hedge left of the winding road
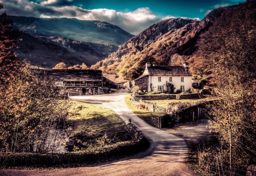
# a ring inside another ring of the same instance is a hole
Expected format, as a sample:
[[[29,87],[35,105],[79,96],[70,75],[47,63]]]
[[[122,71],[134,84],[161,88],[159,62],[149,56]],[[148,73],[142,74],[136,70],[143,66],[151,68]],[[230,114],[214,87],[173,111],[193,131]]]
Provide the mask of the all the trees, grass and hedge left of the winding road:
[[[53,82],[14,53],[20,31],[6,16],[0,14],[0,167],[95,164],[148,147],[112,110],[59,100]]]

